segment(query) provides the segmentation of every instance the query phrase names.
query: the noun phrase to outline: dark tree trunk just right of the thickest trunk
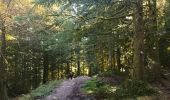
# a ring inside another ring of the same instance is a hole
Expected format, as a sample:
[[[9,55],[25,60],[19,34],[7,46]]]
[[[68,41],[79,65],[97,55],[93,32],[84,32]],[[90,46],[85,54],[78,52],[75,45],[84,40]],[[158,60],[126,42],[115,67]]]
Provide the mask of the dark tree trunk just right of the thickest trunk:
[[[160,79],[161,67],[159,59],[159,46],[158,46],[158,36],[157,36],[157,11],[156,11],[156,0],[149,0],[149,58],[150,65],[153,70],[153,79],[154,81]],[[152,33],[154,32],[154,33]]]

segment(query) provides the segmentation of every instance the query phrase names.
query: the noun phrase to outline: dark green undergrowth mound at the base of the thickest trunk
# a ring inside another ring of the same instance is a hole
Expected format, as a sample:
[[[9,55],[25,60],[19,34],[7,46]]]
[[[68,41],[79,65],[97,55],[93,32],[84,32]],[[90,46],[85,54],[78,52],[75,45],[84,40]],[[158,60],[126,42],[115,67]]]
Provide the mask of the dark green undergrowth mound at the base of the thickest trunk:
[[[118,98],[135,98],[138,96],[149,96],[155,93],[156,91],[152,87],[139,80],[126,80],[115,92]]]

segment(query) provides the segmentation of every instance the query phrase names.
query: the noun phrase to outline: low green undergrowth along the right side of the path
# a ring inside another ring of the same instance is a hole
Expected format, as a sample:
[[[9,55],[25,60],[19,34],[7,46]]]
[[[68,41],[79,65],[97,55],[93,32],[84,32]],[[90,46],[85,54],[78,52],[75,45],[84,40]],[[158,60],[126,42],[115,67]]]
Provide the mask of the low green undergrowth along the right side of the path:
[[[82,91],[94,96],[97,100],[124,100],[141,96],[155,95],[157,92],[147,83],[139,80],[126,80],[120,85],[109,85],[93,78],[86,82]]]

